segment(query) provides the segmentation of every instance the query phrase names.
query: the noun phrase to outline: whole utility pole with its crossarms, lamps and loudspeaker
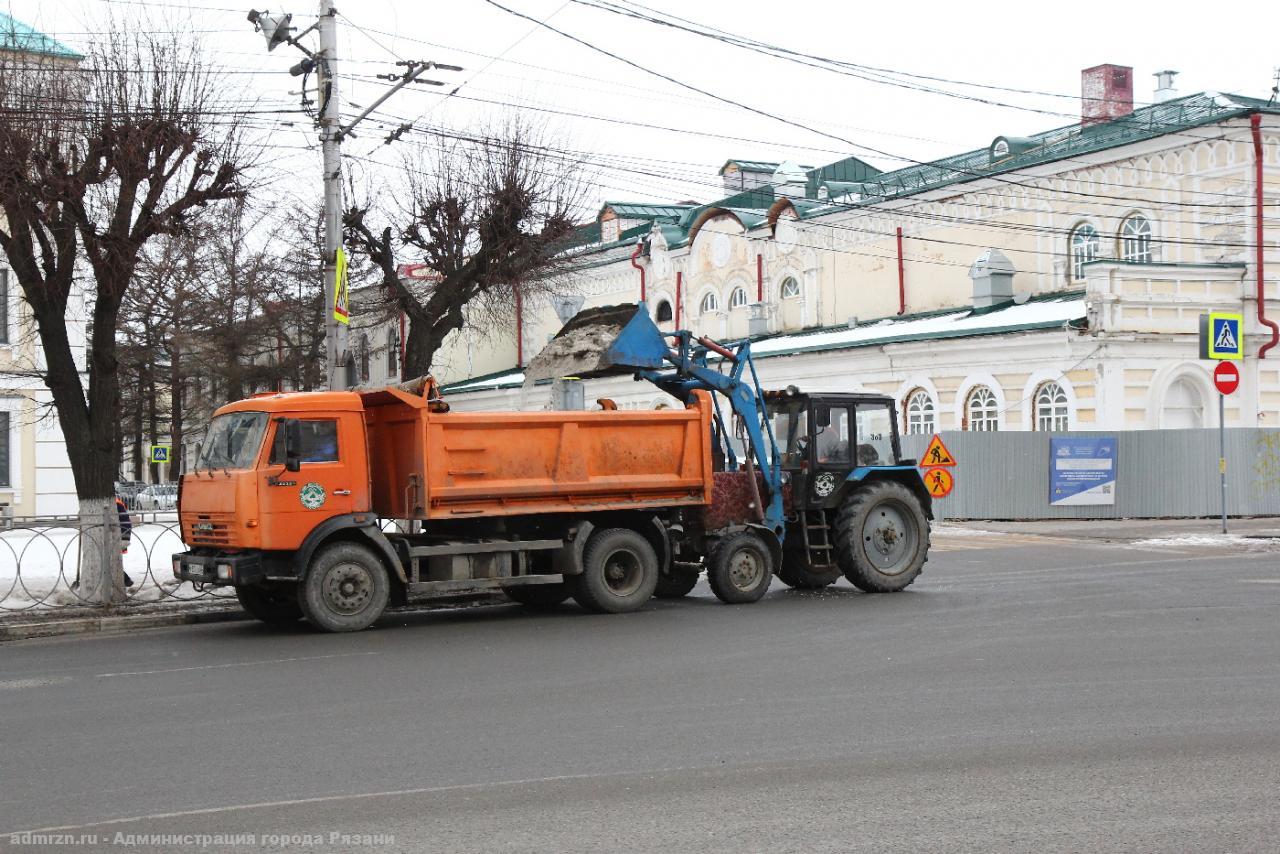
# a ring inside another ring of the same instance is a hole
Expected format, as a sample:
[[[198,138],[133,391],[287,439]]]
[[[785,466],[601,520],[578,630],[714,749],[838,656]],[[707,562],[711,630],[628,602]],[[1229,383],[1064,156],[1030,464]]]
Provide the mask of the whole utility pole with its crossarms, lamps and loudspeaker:
[[[338,22],[335,20],[338,9],[333,0],[320,0],[320,17],[297,36],[293,35],[291,22],[293,15],[273,15],[270,12],[251,9],[248,20],[266,38],[266,49],[275,50],[279,45],[292,45],[306,54],[306,59],[289,69],[294,77],[316,72],[316,81],[320,93],[320,113],[316,118],[316,127],[320,131],[320,152],[324,168],[324,330],[325,330],[325,365],[329,379],[329,388],[347,388],[347,362],[351,360],[351,347],[348,343],[347,320],[349,319],[349,302],[346,288],[346,264],[339,264],[342,254],[342,141],[348,136],[356,136],[352,131],[374,110],[383,105],[392,95],[401,91],[410,83],[424,83],[426,86],[444,86],[440,81],[422,79],[422,72],[439,68],[449,72],[461,72],[458,65],[443,65],[440,63],[424,63],[417,60],[401,60],[397,65],[404,67],[401,74],[379,74],[380,79],[394,82],[389,90],[369,105],[364,113],[352,119],[347,127],[342,127],[340,99],[338,97]],[[320,38],[320,47],[312,52],[298,40],[312,29]],[[307,105],[303,93],[303,105]],[[387,138],[394,142],[402,133],[412,125],[401,125],[396,133]],[[343,292],[339,294],[339,287]]]

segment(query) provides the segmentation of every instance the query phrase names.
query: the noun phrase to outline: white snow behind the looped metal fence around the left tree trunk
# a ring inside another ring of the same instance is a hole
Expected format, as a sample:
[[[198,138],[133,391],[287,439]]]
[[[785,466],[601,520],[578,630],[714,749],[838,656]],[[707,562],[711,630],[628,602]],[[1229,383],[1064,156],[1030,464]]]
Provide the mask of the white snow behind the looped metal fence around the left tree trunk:
[[[200,593],[173,577],[172,556],[186,551],[177,513],[150,515],[133,526],[124,571],[133,581],[131,602],[234,598],[234,594]],[[37,607],[79,604],[72,588],[77,579],[79,531],[74,528],[23,528],[0,531],[0,613]]]

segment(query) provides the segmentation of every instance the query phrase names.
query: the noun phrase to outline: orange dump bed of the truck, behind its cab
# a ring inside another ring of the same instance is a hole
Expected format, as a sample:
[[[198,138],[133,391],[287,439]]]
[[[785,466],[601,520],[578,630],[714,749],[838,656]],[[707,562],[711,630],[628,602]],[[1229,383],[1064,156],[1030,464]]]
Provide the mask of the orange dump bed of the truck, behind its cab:
[[[705,504],[712,402],[685,410],[431,412],[424,398],[362,394],[372,510],[467,519]]]

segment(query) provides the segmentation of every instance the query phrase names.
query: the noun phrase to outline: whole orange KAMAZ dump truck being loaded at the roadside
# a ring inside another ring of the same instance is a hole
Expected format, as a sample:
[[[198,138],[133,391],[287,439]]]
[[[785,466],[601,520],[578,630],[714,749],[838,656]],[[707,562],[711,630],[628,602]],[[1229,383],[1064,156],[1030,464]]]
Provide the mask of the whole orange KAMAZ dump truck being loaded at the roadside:
[[[664,580],[684,513],[712,502],[712,416],[707,392],[684,410],[451,412],[430,380],[237,401],[182,479],[191,551],[173,571],[330,631],[477,588],[630,611]]]

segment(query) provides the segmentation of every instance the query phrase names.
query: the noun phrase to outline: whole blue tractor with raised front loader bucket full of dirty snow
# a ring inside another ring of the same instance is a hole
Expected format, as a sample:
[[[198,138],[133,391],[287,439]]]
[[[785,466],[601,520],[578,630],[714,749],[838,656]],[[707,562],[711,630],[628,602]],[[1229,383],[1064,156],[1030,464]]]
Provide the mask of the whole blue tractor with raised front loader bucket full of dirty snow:
[[[643,305],[579,312],[526,380],[618,373],[685,402],[713,392],[717,407],[713,501],[671,531],[676,554],[658,597],[689,593],[704,570],[731,603],[759,599],[774,575],[800,589],[844,575],[867,593],[902,590],[919,576],[932,497],[916,462],[901,456],[892,398],[764,391],[750,341],[663,333]]]

